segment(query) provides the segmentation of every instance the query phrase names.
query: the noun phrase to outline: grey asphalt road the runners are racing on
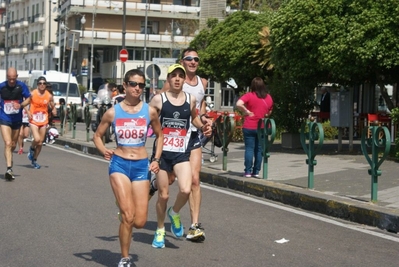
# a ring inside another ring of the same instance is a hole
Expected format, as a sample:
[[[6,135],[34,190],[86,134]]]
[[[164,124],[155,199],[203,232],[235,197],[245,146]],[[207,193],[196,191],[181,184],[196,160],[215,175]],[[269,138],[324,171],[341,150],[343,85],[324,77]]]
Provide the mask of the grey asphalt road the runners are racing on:
[[[26,154],[14,154],[16,180],[6,182],[0,174],[0,267],[117,266],[119,221],[107,163],[60,146],[44,147],[38,163],[42,168],[34,170]],[[170,203],[176,194],[176,186],[171,188]],[[152,248],[153,198],[145,228],[134,230],[135,266],[383,267],[399,262],[396,234],[209,185],[202,192],[206,241],[173,238],[167,220],[166,248]],[[188,226],[188,207],[181,214]],[[276,242],[282,239],[288,242]]]

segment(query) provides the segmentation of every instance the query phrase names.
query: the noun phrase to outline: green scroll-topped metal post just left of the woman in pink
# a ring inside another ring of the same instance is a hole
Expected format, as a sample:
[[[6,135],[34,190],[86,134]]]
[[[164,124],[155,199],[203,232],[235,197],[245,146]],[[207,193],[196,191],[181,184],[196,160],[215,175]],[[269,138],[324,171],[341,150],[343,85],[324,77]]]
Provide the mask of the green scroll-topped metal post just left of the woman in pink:
[[[222,133],[222,151],[223,151],[223,170],[227,170],[227,152],[229,152],[228,145],[233,137],[235,121],[234,118],[231,118],[228,112],[225,112],[223,115],[219,116],[215,125],[217,127],[217,133]]]

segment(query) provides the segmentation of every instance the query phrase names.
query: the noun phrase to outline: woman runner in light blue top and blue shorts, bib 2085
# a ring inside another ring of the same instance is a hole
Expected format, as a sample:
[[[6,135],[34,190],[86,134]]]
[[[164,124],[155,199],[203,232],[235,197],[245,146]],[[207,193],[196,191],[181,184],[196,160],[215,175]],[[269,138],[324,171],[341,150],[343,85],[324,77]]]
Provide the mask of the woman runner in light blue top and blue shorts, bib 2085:
[[[120,209],[119,242],[122,258],[119,267],[133,266],[129,257],[132,230],[144,227],[148,214],[149,171],[158,173],[163,147],[163,134],[155,108],[141,101],[145,76],[133,69],[125,74],[125,99],[108,109],[94,133],[93,141],[109,164],[109,180]],[[114,127],[117,147],[106,148],[102,138],[107,128]],[[145,142],[151,125],[157,137],[157,149],[151,163]]]

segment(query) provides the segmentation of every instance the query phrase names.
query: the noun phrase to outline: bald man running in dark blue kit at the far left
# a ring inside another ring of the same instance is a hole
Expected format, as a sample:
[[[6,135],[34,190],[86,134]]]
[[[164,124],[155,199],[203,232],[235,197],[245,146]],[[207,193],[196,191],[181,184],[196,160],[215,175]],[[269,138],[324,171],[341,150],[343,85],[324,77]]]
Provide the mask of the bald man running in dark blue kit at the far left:
[[[17,146],[22,125],[22,109],[30,102],[28,87],[17,78],[17,70],[11,67],[7,70],[7,80],[0,83],[0,129],[7,165],[4,177],[7,181],[15,180],[12,152]]]

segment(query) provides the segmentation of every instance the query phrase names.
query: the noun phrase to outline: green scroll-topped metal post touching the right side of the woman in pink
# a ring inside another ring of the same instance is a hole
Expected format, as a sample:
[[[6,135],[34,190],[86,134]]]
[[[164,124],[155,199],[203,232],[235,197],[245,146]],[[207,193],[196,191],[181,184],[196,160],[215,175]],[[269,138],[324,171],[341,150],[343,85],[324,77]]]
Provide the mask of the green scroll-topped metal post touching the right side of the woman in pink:
[[[263,128],[262,128],[263,125]],[[263,156],[263,179],[268,176],[268,159],[270,157],[269,148],[274,142],[276,137],[276,123],[273,119],[269,119],[266,115],[265,118],[258,121],[258,140],[262,145]],[[263,142],[262,142],[263,141]]]

